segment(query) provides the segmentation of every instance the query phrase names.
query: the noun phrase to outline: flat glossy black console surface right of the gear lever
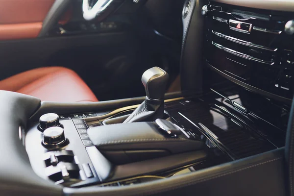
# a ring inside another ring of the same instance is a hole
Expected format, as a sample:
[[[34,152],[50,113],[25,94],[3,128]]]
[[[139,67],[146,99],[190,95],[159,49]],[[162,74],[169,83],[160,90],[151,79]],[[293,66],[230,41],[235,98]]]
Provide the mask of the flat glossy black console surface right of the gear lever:
[[[234,91],[221,93],[231,95],[224,98],[225,96],[213,92],[200,98],[168,103],[167,110],[176,121],[192,129],[211,149],[220,149],[232,160],[285,145],[285,130],[256,116],[247,108],[245,113],[231,104],[238,99],[244,100],[242,95],[234,94]],[[263,109],[266,112],[268,108]],[[267,115],[272,113],[274,110]],[[287,118],[286,113],[284,111],[275,122],[281,121],[284,116]],[[276,118],[276,116],[272,117],[272,119]]]

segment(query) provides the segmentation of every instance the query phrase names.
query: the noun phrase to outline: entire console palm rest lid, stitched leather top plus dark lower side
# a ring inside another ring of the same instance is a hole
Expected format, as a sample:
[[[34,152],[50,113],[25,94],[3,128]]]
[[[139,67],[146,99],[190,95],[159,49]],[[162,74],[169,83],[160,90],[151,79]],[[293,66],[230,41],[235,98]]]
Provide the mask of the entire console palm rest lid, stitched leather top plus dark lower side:
[[[157,124],[150,122],[98,126],[88,129],[87,133],[101,153],[108,159],[119,163],[126,162],[117,159],[125,160],[130,156],[140,155],[142,159],[148,159],[195,151],[204,147],[202,142],[191,140],[184,134],[172,138],[165,134]],[[113,159],[114,157],[116,160]]]

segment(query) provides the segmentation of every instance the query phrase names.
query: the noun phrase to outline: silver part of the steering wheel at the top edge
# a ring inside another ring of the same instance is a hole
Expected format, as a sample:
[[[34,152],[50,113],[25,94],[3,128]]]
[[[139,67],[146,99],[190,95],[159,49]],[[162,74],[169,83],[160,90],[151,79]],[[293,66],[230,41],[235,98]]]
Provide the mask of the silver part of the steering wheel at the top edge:
[[[92,4],[92,2],[93,0],[83,0],[83,17],[87,21],[95,18],[103,20],[112,11],[118,8],[123,0],[97,0],[97,2],[91,7],[90,4]]]

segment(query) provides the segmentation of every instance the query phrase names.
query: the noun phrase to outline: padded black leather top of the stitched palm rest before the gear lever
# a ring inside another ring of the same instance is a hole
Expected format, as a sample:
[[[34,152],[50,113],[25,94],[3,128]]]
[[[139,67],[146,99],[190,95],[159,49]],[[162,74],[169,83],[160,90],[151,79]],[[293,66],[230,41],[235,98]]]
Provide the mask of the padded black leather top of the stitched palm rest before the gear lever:
[[[98,126],[88,129],[93,144],[101,151],[166,149],[173,154],[204,147],[204,143],[190,140],[184,134],[170,138],[161,133],[155,123],[127,123]]]

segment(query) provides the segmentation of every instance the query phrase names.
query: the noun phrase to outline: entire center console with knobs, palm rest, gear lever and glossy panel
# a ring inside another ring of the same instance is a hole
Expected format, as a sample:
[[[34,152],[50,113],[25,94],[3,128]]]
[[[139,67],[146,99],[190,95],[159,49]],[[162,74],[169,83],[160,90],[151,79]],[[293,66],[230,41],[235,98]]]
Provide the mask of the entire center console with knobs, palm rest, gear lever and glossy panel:
[[[140,105],[33,118],[20,134],[34,172],[70,188],[128,186],[284,146],[287,108],[272,116],[268,99],[234,85],[164,100],[167,78],[157,67],[144,73]]]

